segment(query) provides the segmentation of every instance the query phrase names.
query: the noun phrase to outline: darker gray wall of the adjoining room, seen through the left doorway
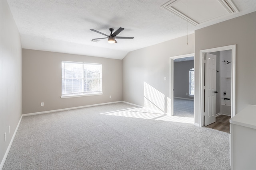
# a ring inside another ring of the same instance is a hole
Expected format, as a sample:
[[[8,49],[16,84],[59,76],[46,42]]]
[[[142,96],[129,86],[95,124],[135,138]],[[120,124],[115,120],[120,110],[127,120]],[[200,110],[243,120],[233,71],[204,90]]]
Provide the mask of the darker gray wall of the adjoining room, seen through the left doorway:
[[[194,61],[174,63],[174,97],[194,99],[189,95],[189,70],[194,68]],[[188,93],[186,95],[186,93]]]

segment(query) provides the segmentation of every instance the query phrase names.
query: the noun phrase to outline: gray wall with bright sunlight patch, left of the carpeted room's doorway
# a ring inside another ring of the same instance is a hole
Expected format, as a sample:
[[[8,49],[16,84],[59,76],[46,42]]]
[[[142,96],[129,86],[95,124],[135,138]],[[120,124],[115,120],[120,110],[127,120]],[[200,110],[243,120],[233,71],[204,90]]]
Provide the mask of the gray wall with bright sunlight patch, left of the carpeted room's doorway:
[[[123,100],[170,113],[170,57],[194,53],[194,34],[131,51],[123,59]],[[164,80],[166,77],[166,80]]]

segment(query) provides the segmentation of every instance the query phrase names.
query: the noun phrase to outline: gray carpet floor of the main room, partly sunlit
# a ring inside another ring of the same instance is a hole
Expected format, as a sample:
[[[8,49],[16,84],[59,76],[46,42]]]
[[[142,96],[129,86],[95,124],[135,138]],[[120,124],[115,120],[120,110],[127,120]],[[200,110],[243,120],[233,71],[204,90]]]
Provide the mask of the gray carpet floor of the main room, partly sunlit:
[[[142,112],[117,103],[23,117],[3,170],[231,169],[228,133],[130,116]]]

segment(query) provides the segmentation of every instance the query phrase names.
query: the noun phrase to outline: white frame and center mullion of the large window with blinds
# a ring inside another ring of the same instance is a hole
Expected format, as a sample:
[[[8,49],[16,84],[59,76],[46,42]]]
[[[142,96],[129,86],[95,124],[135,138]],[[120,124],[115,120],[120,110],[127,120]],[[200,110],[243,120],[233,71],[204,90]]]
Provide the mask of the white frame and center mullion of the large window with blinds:
[[[60,98],[75,98],[75,97],[82,97],[82,96],[95,96],[95,95],[102,95],[102,64],[98,64],[98,63],[82,63],[82,62],[72,62],[72,61],[62,61],[62,63],[75,63],[75,64],[81,64],[82,65],[82,70],[84,70],[84,65],[85,64],[89,64],[89,65],[100,65],[100,91],[97,92],[84,92],[84,86],[82,85],[82,92],[80,93],[67,93],[67,94],[62,94],[60,96]],[[84,76],[84,71],[81,72],[81,80],[82,80],[82,84],[84,84],[84,81],[86,80],[85,76]],[[62,80],[65,78],[61,78]],[[61,85],[63,86],[63,84],[61,83]],[[61,87],[62,89],[62,87]],[[61,90],[62,91],[62,90]],[[62,92],[61,92],[62,93]]]

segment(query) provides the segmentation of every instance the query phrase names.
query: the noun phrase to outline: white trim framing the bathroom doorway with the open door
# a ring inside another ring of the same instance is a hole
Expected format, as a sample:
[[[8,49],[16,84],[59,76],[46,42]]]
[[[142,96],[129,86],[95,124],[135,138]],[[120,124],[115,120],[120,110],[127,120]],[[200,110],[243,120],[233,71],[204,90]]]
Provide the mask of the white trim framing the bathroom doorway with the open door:
[[[205,53],[212,53],[216,51],[225,51],[231,50],[232,56],[232,66],[231,66],[231,117],[236,115],[236,45],[228,45],[224,47],[217,47],[212,49],[205,49],[200,50],[200,68],[199,68],[199,108],[200,108],[200,115],[199,115],[199,126],[204,126],[204,54]]]

